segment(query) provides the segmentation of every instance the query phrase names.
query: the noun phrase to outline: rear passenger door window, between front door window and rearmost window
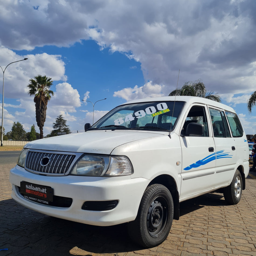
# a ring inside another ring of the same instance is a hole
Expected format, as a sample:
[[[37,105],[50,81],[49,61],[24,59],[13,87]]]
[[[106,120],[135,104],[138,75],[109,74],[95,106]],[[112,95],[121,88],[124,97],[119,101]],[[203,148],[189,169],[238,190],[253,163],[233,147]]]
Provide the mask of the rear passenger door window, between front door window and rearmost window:
[[[212,120],[213,136],[219,138],[230,138],[231,136],[224,112],[212,108],[209,108],[209,111]]]

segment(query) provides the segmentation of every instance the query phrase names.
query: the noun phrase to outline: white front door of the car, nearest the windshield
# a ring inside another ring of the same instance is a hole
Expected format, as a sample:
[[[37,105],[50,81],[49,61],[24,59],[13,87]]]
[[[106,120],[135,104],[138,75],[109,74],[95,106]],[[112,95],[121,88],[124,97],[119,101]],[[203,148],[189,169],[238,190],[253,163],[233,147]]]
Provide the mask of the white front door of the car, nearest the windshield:
[[[209,133],[209,112],[202,104],[193,104],[183,121],[180,133],[182,149],[182,172],[180,200],[185,200],[212,189],[216,185],[216,149]],[[189,123],[204,125],[201,136],[187,136]]]

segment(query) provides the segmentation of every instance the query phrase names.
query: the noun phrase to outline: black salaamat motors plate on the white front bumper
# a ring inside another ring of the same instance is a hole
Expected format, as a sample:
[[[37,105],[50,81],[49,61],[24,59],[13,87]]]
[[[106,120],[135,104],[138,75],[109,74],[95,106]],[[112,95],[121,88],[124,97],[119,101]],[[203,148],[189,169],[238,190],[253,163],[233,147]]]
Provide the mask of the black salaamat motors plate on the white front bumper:
[[[49,186],[42,186],[30,182],[20,182],[20,193],[24,198],[34,202],[49,204],[53,201],[53,189]]]

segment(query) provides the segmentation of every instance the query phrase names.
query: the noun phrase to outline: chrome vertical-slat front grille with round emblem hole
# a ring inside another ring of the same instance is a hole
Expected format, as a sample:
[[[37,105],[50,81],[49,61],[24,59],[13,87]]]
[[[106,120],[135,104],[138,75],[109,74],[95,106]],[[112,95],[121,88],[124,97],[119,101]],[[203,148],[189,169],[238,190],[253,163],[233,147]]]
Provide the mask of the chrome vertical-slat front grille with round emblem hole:
[[[25,168],[28,171],[42,174],[65,175],[75,157],[75,154],[29,151],[26,157]]]

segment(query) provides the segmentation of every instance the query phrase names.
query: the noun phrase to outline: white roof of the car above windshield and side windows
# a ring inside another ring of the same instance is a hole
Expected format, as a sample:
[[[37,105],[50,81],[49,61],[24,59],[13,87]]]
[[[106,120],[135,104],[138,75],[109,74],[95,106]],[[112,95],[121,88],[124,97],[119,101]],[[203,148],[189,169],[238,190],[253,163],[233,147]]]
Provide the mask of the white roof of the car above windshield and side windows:
[[[202,97],[193,97],[193,96],[163,96],[163,97],[155,97],[155,98],[144,98],[144,99],[136,99],[133,101],[129,101],[121,105],[150,102],[150,101],[185,101],[189,105],[192,103],[203,103],[210,106],[215,106],[217,108],[222,108],[231,112],[235,112],[233,108],[231,108],[230,106],[224,105],[223,103],[219,103],[217,101],[212,101],[210,99],[206,99]]]

